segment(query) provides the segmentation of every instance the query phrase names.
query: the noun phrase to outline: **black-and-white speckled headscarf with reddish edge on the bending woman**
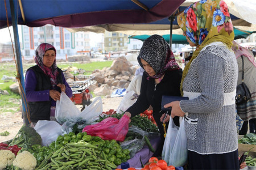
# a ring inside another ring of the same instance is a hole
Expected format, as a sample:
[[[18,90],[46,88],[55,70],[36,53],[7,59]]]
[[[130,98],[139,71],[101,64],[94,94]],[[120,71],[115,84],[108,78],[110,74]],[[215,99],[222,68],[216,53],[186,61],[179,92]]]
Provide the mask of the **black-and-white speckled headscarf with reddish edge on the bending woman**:
[[[141,58],[144,59],[155,71],[154,76],[147,74],[148,78],[160,78],[166,70],[177,70],[180,66],[176,63],[174,53],[162,36],[152,35],[142,45],[141,52],[137,57],[139,65],[144,69]]]

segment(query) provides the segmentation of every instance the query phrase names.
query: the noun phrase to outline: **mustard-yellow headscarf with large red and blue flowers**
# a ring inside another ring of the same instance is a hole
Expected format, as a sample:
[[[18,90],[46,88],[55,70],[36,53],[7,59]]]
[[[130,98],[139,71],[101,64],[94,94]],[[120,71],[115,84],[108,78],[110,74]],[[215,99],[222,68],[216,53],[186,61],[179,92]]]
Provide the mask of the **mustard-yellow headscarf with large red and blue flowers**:
[[[214,41],[221,41],[231,49],[234,31],[228,6],[220,0],[201,0],[193,3],[177,16],[177,23],[188,39],[197,45],[191,60],[183,71],[180,87],[181,93],[183,93],[183,80],[191,62],[201,49]]]

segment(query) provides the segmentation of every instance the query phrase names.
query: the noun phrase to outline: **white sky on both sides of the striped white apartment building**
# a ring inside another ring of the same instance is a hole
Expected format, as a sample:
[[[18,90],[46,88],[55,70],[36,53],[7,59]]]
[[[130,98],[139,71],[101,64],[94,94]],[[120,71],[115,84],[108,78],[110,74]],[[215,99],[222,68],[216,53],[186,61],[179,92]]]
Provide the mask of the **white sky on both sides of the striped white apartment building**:
[[[10,36],[11,32],[11,36]],[[14,36],[13,36],[13,27],[10,27],[10,32],[8,28],[3,28],[0,29],[0,43],[6,44],[7,42],[11,41],[11,38],[13,39],[14,42]],[[22,40],[22,34],[21,34],[21,25],[18,25],[18,32],[19,32],[19,41]],[[91,43],[93,46],[96,46],[97,42],[101,42],[102,39],[102,34],[101,33],[94,33],[90,32],[90,38],[91,38]]]

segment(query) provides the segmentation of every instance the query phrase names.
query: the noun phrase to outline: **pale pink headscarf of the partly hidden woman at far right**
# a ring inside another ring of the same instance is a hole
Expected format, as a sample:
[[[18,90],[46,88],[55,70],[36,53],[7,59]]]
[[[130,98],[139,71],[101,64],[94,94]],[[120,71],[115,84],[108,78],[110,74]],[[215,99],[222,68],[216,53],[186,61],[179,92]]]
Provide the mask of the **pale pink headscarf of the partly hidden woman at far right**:
[[[245,57],[247,57],[249,59],[249,61],[251,63],[253,63],[254,67],[256,67],[256,61],[254,59],[254,56],[251,53],[249,53],[246,48],[244,48],[241,45],[237,44],[236,41],[233,41],[232,50],[234,51],[236,58],[238,58],[240,56],[245,56]]]

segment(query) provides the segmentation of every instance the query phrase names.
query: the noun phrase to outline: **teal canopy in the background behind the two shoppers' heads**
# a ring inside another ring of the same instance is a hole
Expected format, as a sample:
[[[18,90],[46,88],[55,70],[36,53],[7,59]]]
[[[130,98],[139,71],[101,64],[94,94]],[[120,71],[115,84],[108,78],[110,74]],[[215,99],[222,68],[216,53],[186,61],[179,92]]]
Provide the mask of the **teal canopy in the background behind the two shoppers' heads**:
[[[245,29],[245,28],[244,28]],[[175,32],[177,34],[172,35],[172,44],[188,44],[187,39],[185,36],[182,35],[181,29],[175,29]],[[256,33],[255,31],[243,31],[242,29],[238,29],[234,27],[234,39],[246,39],[247,36],[251,35],[252,33]],[[137,39],[141,41],[145,41],[148,37],[151,35],[133,35],[129,36],[129,39]],[[168,43],[170,43],[170,34],[162,35],[164,40],[166,40]]]

